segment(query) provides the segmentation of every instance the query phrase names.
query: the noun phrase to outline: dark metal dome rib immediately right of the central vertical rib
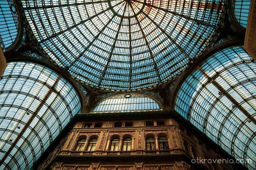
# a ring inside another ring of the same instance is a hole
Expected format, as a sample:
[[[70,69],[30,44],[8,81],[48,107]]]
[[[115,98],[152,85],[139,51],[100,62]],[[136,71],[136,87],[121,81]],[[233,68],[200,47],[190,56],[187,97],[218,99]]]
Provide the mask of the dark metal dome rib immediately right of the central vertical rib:
[[[132,7],[131,2],[128,1],[128,4],[130,4],[131,9],[132,9],[132,12],[134,13],[134,17],[135,17],[135,19],[136,19],[136,21],[137,21],[137,24],[139,25],[139,29],[141,29],[141,33],[142,33],[143,38],[144,38],[144,40],[145,40],[145,43],[146,43],[146,45],[147,45],[147,48],[148,48],[148,51],[149,51],[149,53],[150,53],[151,59],[152,59],[152,61],[153,61],[153,63],[154,63],[154,70],[156,71],[156,75],[158,76],[158,81],[159,81],[159,83],[161,83],[161,77],[160,77],[160,74],[159,74],[159,72],[158,72],[158,66],[156,65],[156,61],[155,61],[155,59],[154,59],[153,53],[152,53],[152,51],[151,51],[151,49],[150,49],[150,47],[149,47],[149,44],[148,44],[148,40],[147,40],[147,38],[146,38],[146,35],[145,35],[145,33],[144,33],[144,31],[143,31],[143,29],[142,29],[142,27],[141,27],[141,24],[140,24],[140,22],[139,22],[139,20],[138,20],[138,18],[137,18],[137,15],[136,15],[136,13],[135,13],[133,7]]]

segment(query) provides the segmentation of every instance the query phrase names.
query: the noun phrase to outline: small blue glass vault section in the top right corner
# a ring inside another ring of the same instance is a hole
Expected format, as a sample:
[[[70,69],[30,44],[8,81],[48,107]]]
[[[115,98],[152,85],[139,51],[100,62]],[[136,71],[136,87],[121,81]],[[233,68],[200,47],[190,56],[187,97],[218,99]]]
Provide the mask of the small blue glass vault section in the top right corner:
[[[250,11],[250,0],[234,0],[234,13],[237,21],[247,27],[247,21]]]

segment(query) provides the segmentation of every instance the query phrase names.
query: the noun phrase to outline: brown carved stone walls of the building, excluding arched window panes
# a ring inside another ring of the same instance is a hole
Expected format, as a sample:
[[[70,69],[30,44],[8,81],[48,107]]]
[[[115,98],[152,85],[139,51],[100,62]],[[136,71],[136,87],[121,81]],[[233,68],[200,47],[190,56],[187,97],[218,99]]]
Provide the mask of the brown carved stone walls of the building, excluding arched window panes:
[[[192,135],[188,129],[179,126],[175,119],[150,120],[150,126],[147,126],[147,121],[129,121],[132,122],[132,127],[125,127],[126,121],[119,122],[121,127],[115,127],[114,121],[100,122],[102,127],[97,128],[95,124],[100,124],[99,122],[77,122],[69,135],[62,140],[51,157],[48,157],[39,169],[45,169],[47,166],[52,170],[233,169],[229,164],[191,163],[195,155],[202,159],[220,159],[221,156],[200,141],[196,135]],[[158,125],[158,121],[164,122],[164,125]],[[85,126],[88,124],[90,124],[89,128]],[[159,137],[163,136],[168,143],[168,149],[165,150],[161,150],[159,145]],[[114,137],[120,139],[118,149],[110,151],[111,139]],[[130,150],[123,151],[122,145],[126,137],[132,139],[131,147]],[[153,137],[154,150],[147,150],[147,137]],[[75,151],[81,138],[86,139],[83,149]],[[97,139],[95,150],[87,151],[92,138]],[[54,159],[54,154],[63,161]]]

